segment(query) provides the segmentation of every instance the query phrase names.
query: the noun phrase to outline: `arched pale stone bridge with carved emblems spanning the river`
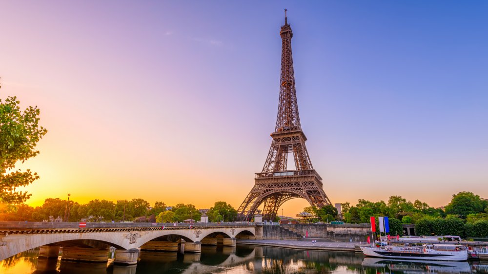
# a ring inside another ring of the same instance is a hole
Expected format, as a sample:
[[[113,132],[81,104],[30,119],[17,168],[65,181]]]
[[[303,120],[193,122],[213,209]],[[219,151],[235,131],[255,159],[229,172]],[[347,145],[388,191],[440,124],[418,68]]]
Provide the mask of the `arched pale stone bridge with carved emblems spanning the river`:
[[[41,247],[40,256],[77,261],[107,261],[117,248],[115,263],[135,264],[141,247],[158,251],[200,253],[202,241],[235,246],[236,237],[254,237],[254,224],[1,222],[0,260]]]

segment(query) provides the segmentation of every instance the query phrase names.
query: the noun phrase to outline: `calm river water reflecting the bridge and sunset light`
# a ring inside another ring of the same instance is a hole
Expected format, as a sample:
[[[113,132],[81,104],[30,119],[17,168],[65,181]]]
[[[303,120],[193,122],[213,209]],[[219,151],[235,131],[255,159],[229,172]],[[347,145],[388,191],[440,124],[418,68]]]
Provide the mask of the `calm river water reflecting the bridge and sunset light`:
[[[392,261],[352,252],[293,250],[275,247],[203,247],[197,255],[142,252],[137,265],[79,263],[38,259],[39,249],[0,262],[5,274],[160,274],[160,273],[488,273],[488,261]]]

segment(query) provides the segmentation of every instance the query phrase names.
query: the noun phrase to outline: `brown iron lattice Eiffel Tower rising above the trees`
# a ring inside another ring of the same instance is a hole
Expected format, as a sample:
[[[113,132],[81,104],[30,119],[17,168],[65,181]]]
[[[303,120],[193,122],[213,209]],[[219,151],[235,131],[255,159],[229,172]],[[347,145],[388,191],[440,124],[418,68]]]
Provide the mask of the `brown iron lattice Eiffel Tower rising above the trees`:
[[[322,188],[322,178],[313,169],[305,147],[306,137],[300,126],[291,55],[293,32],[286,18],[286,9],[280,36],[280,101],[276,127],[271,133],[273,141],[263,171],[255,173],[254,187],[238,209],[241,220],[250,220],[263,203],[263,220],[274,220],[280,206],[294,198],[303,198],[317,208],[331,204]],[[296,170],[287,169],[288,153],[293,153]]]

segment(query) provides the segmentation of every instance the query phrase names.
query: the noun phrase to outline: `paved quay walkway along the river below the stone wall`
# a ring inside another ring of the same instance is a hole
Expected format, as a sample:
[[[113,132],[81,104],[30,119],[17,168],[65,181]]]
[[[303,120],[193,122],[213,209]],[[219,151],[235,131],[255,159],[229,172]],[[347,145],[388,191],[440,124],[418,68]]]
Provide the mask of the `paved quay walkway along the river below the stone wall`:
[[[329,250],[329,251],[356,251],[358,245],[365,245],[359,242],[316,242],[304,240],[237,240],[238,244],[264,245],[274,247],[285,247],[306,250]],[[366,244],[367,245],[367,244]]]

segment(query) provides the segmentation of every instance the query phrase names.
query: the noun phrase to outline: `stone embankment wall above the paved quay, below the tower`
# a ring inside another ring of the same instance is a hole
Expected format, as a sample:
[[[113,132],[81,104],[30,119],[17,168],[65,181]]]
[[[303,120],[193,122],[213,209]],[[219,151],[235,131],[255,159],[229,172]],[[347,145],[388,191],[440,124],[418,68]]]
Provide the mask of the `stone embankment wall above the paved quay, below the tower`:
[[[300,236],[324,238],[335,241],[365,241],[371,235],[368,224],[282,224],[285,230]],[[266,238],[264,236],[264,238]]]

